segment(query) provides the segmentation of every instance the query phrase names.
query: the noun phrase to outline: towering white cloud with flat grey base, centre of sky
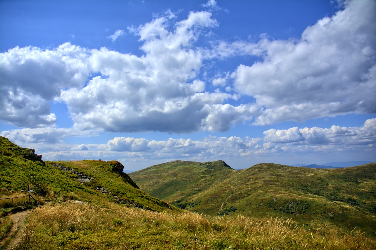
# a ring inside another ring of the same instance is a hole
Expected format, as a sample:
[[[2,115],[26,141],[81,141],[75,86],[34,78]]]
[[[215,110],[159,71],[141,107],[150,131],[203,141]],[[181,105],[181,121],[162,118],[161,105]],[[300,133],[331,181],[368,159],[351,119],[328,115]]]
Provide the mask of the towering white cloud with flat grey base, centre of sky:
[[[205,83],[195,79],[204,56],[193,44],[203,30],[216,27],[217,21],[209,12],[190,12],[170,31],[171,18],[175,16],[167,12],[150,23],[129,28],[144,42],[141,49],[145,56],[106,48],[91,51],[92,68],[102,77],[61,94],[74,122],[86,129],[106,131],[186,133],[224,131],[232,122],[251,119],[250,108],[247,116],[240,116],[243,107],[223,104],[237,95],[205,92]],[[223,118],[220,124],[217,114]]]

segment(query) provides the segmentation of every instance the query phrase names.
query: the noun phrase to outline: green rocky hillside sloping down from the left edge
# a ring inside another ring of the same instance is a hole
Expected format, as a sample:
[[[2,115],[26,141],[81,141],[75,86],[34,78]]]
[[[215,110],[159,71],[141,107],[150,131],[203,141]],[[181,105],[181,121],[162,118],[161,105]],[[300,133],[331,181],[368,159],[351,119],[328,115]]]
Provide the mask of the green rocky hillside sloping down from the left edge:
[[[24,149],[0,137],[0,186],[3,193],[34,190],[44,199],[103,200],[153,211],[169,210],[167,203],[139,190],[118,161],[42,161],[33,149]],[[1,194],[1,193],[0,193]]]

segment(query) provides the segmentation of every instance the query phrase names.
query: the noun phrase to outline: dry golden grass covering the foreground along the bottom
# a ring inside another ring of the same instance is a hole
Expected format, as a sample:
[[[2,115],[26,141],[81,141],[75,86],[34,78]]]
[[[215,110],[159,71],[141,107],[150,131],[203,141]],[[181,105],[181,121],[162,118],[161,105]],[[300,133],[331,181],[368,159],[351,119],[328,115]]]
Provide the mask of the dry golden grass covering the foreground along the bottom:
[[[64,202],[30,214],[19,249],[375,249],[361,232],[307,231],[290,219],[211,218]]]

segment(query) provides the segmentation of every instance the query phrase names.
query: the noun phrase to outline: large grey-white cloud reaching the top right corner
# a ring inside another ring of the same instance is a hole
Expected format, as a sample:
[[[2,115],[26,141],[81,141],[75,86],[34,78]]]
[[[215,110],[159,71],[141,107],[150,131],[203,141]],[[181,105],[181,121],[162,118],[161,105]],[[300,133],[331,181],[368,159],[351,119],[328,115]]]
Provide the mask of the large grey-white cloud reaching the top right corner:
[[[298,41],[220,44],[221,56],[263,57],[233,73],[239,93],[265,107],[255,125],[376,112],[376,2],[345,6],[308,27]]]

